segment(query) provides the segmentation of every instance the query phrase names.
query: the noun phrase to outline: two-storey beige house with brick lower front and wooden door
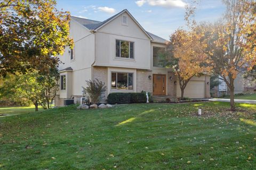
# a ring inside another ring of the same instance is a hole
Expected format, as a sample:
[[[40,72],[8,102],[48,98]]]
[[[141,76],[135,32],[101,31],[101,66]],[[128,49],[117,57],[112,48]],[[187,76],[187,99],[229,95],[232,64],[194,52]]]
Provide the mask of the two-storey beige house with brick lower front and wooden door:
[[[127,10],[103,22],[71,16],[70,37],[74,49],[59,57],[57,106],[70,98],[78,103],[86,80],[96,78],[107,86],[105,101],[111,92],[143,90],[154,96],[180,96],[174,73],[158,63],[158,51],[166,47],[166,40],[143,29]],[[209,76],[191,79],[185,96],[210,97],[209,83]]]

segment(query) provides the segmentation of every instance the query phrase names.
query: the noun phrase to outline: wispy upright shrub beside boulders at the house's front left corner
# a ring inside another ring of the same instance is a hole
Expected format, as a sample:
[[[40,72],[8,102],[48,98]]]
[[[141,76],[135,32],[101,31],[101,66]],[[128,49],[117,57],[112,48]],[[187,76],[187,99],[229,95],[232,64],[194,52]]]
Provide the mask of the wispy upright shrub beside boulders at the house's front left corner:
[[[105,83],[98,79],[86,81],[87,87],[84,88],[84,92],[90,96],[91,103],[97,104],[100,101],[101,95],[105,93],[107,87]]]

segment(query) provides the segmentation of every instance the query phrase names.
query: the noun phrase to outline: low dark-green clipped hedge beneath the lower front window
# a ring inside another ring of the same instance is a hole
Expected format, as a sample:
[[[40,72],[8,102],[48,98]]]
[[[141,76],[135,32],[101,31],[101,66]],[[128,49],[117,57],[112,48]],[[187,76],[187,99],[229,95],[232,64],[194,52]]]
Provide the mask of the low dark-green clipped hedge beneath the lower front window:
[[[147,96],[142,92],[113,92],[108,95],[109,104],[146,103]]]

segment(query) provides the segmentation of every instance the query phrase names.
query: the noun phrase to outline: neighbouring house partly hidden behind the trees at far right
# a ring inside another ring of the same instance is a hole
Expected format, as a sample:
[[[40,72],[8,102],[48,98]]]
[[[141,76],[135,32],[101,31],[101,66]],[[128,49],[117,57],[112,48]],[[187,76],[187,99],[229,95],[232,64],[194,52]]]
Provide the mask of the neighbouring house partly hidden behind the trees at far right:
[[[219,86],[214,87],[211,89],[212,97],[222,97],[229,95],[229,89],[224,80],[219,79]],[[240,94],[244,92],[244,78],[242,73],[238,74],[235,81],[234,81],[234,93],[235,94]]]

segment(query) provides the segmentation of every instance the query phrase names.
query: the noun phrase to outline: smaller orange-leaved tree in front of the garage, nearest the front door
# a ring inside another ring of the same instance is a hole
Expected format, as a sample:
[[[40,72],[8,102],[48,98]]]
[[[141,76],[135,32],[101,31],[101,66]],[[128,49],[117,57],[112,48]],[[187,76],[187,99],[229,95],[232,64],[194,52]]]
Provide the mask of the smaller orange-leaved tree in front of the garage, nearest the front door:
[[[160,54],[162,58],[160,63],[165,67],[171,67],[177,75],[182,99],[189,80],[211,69],[206,66],[207,55],[203,51],[204,44],[201,36],[195,30],[178,29],[171,35],[166,50]]]

